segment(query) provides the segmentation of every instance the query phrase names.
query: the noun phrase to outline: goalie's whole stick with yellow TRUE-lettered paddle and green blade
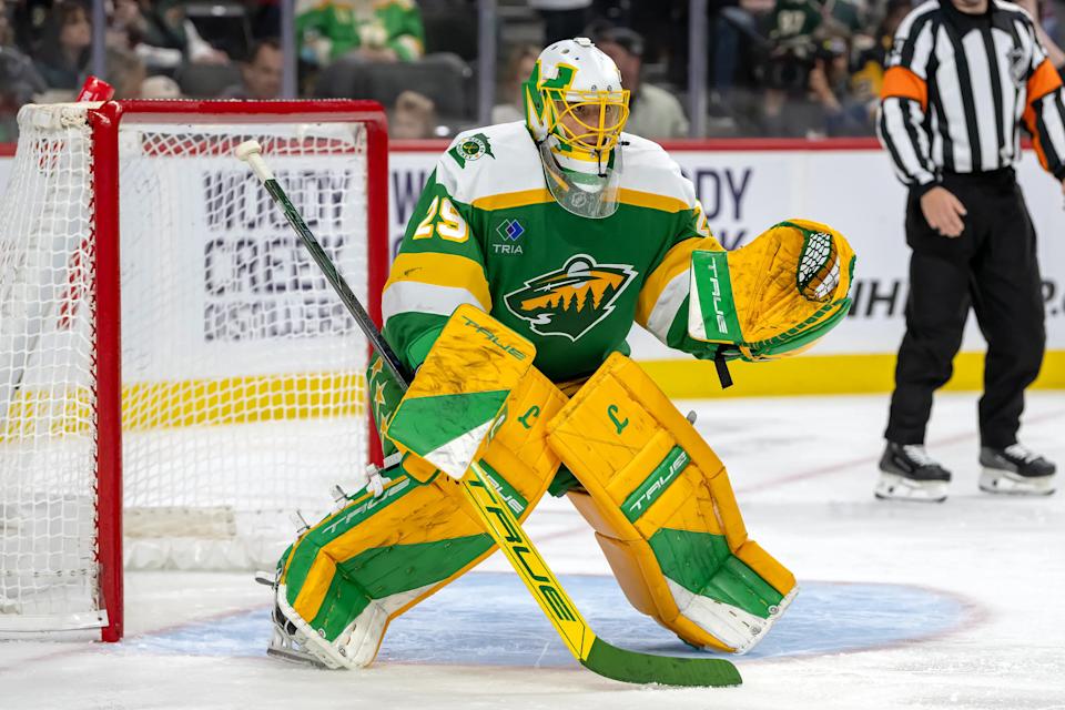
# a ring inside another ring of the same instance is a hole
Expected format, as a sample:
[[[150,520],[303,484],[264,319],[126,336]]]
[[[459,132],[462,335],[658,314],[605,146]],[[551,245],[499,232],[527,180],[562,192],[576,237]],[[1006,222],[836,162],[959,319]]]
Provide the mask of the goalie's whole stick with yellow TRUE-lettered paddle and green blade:
[[[409,382],[406,368],[275,180],[262,156],[262,146],[256,141],[245,141],[236,146],[235,152],[240,160],[251,166],[266,192],[285,213],[288,224],[311,252],[367,339],[381,354],[399,387],[406,392]],[[507,556],[518,577],[581,666],[606,678],[631,683],[738,686],[742,682],[736,666],[722,658],[656,656],[621,649],[604,641],[581,617],[572,599],[532,545],[532,540],[521,529],[514,513],[507,505],[500,504],[495,487],[480,466],[477,463],[471,464],[463,478],[455,483],[463,488],[485,530]]]

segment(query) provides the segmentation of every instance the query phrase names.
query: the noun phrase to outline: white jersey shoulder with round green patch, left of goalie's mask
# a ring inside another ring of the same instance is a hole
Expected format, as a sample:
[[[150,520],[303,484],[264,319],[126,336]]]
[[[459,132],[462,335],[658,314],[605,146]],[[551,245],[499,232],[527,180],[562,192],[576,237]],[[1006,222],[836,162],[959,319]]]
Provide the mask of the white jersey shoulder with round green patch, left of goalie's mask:
[[[458,202],[546,189],[536,143],[524,121],[463,131],[436,164],[436,181]]]

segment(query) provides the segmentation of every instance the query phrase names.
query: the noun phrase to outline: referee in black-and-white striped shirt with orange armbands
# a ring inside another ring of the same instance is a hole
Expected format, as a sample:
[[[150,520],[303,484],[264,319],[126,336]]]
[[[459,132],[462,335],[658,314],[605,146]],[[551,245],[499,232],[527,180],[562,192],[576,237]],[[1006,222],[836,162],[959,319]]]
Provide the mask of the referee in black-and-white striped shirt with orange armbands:
[[[1065,189],[1065,91],[1032,18],[1001,0],[929,0],[900,24],[878,133],[910,189],[910,298],[876,497],[946,498],[924,448],[968,310],[987,341],[980,487],[1054,491],[1055,467],[1017,443],[1046,342],[1035,231],[1017,186],[1021,125]]]

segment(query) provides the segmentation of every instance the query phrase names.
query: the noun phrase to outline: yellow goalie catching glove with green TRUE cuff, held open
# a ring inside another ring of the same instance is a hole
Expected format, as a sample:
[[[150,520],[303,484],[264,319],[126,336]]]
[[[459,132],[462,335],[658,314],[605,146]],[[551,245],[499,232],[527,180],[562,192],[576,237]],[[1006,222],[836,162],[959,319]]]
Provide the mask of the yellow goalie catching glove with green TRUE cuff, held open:
[[[846,315],[854,251],[816,222],[781,222],[733,252],[691,258],[691,337],[727,359],[777,359],[808,349]]]

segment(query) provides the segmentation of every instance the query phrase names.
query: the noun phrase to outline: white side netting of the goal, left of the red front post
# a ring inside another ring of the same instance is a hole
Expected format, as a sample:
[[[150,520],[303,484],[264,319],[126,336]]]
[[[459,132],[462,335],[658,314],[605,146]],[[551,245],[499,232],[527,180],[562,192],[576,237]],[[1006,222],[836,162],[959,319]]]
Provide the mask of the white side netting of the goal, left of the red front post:
[[[22,133],[0,203],[0,621],[91,626],[92,304],[70,317],[92,278],[90,135],[55,118]]]

